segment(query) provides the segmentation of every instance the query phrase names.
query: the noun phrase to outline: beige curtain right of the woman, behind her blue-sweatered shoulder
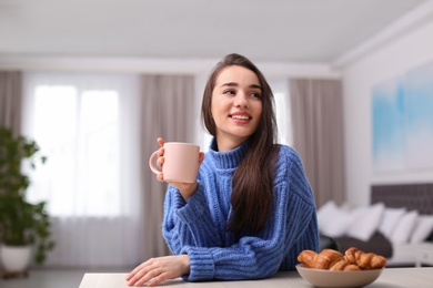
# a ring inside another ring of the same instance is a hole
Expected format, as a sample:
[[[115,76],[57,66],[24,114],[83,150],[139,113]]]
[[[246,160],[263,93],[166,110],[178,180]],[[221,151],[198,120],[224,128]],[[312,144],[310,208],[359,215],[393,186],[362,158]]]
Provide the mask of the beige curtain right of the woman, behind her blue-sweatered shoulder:
[[[293,147],[299,152],[318,207],[344,200],[343,116],[340,80],[292,79]]]

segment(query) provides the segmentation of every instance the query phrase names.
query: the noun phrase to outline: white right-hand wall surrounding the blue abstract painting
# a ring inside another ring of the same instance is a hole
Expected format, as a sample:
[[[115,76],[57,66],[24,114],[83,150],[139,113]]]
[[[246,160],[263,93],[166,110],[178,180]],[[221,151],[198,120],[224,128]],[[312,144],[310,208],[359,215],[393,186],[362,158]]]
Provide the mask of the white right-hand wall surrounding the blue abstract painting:
[[[433,169],[374,173],[371,156],[372,86],[384,80],[403,75],[431,61],[433,61],[432,18],[411,32],[389,41],[380,49],[343,68],[345,188],[350,203],[367,204],[372,184],[433,182]]]

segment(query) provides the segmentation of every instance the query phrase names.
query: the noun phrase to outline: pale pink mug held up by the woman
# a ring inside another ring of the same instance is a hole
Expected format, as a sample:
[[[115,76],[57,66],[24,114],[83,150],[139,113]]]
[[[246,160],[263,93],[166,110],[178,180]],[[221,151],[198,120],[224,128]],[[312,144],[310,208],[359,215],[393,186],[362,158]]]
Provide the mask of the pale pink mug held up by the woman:
[[[200,146],[190,143],[167,142],[163,147],[164,164],[162,171],[155,166],[158,151],[153,152],[149,158],[150,169],[154,174],[162,172],[167,182],[195,182],[199,173]]]

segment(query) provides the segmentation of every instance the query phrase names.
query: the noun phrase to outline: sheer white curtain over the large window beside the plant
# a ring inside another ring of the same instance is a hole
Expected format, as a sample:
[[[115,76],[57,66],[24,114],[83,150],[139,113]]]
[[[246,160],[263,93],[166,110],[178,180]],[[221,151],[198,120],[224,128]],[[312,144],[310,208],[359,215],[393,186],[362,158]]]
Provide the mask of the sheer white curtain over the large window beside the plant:
[[[23,132],[48,162],[30,200],[47,200],[56,248],[47,266],[130,267],[142,255],[139,78],[26,73]]]

